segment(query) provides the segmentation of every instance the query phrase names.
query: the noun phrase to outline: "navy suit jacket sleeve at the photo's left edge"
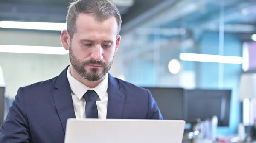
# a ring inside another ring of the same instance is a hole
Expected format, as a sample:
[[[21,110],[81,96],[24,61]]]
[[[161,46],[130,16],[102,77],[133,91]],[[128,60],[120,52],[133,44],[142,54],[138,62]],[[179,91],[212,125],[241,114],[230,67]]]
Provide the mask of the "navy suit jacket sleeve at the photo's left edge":
[[[15,101],[9,108],[0,127],[0,143],[30,143],[29,125],[26,117],[23,90],[18,89]]]

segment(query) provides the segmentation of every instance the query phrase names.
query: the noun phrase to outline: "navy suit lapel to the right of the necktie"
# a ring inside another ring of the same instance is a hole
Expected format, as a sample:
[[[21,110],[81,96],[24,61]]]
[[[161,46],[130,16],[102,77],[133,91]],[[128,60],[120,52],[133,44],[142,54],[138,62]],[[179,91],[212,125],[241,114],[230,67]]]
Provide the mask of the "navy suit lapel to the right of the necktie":
[[[108,73],[108,119],[122,119],[125,95],[121,92],[116,79]]]

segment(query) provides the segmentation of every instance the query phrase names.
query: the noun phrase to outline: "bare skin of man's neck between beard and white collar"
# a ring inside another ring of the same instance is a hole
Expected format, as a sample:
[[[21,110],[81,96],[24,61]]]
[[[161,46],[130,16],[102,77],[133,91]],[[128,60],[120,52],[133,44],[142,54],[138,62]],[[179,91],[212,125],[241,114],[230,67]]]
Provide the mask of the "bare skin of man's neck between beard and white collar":
[[[97,85],[99,85],[99,83],[101,83],[103,81],[103,79],[105,78],[105,76],[99,80],[99,81],[88,81],[87,79],[84,79],[83,77],[81,77],[74,69],[72,66],[70,66],[70,74],[71,76],[73,76],[76,80],[78,80],[79,82],[81,82],[82,84],[86,85],[89,88],[95,88]]]

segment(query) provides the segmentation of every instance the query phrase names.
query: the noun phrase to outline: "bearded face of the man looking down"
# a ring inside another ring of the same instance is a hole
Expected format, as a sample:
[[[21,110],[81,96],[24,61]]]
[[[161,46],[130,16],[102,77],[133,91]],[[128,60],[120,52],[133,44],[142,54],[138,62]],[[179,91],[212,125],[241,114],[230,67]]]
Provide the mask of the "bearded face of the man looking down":
[[[118,25],[111,17],[98,22],[90,14],[79,14],[76,33],[70,42],[70,63],[88,81],[99,81],[108,73],[118,50]]]

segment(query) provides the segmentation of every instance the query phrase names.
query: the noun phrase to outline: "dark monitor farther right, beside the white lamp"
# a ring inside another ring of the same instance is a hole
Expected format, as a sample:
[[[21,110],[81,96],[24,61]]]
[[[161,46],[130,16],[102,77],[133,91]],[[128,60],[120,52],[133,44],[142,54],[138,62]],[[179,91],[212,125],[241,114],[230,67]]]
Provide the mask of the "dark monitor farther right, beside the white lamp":
[[[231,90],[185,90],[187,101],[186,122],[195,123],[218,117],[218,126],[229,126]]]

